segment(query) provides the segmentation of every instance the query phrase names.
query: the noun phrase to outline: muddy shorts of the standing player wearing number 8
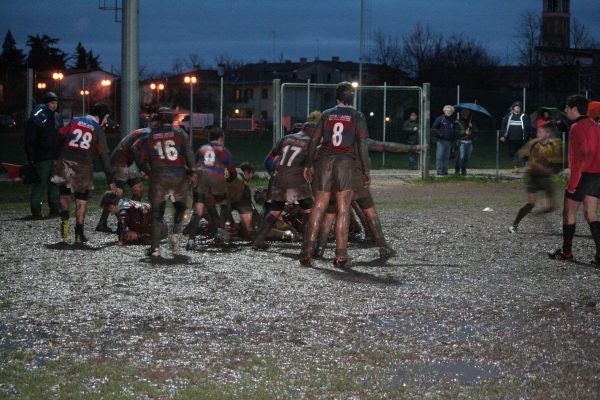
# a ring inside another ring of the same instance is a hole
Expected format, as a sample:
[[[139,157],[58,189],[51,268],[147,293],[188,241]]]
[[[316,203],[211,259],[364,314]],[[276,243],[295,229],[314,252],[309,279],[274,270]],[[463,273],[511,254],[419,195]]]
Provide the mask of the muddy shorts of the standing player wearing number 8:
[[[356,161],[343,155],[326,155],[317,161],[312,188],[320,192],[354,189]]]

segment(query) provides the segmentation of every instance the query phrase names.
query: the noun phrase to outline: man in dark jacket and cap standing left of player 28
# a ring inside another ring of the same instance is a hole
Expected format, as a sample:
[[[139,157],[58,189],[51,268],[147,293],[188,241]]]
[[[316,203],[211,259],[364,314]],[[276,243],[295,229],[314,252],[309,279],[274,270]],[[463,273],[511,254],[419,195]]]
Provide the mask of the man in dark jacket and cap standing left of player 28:
[[[59,216],[58,188],[50,182],[53,173],[53,160],[58,158],[61,148],[61,140],[55,119],[55,111],[58,108],[58,96],[48,92],[44,96],[43,103],[35,106],[25,130],[25,153],[27,162],[33,164],[40,181],[31,185],[31,217],[42,218],[42,199],[48,192],[48,206],[50,214],[48,217]]]

